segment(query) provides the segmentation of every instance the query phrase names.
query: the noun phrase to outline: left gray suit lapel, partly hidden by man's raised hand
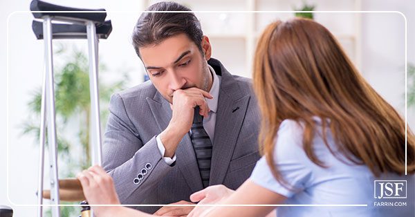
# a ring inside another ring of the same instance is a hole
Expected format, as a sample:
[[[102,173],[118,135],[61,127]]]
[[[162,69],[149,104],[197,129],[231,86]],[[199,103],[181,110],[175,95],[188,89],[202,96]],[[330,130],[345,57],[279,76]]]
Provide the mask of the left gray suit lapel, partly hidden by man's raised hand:
[[[172,119],[172,109],[170,109],[169,102],[167,102],[167,100],[165,100],[158,92],[153,99],[147,97],[146,100],[160,132],[164,131]],[[176,156],[176,166],[183,173],[183,177],[185,178],[187,185],[192,189],[192,192],[203,189],[201,175],[199,173],[199,167],[197,166],[196,155],[189,133],[187,133],[181,142],[179,142],[176,149]]]

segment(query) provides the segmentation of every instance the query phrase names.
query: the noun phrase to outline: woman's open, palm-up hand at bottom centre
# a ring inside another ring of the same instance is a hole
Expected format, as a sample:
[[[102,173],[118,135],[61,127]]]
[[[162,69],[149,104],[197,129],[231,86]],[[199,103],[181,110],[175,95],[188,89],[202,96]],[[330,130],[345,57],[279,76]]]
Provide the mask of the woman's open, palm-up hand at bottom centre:
[[[198,191],[190,196],[192,202],[198,202],[198,205],[214,205],[225,200],[234,191],[225,187],[225,185],[213,185],[207,187],[201,191]],[[196,206],[193,211],[189,214],[189,217],[192,216],[204,216],[213,209],[214,206]]]

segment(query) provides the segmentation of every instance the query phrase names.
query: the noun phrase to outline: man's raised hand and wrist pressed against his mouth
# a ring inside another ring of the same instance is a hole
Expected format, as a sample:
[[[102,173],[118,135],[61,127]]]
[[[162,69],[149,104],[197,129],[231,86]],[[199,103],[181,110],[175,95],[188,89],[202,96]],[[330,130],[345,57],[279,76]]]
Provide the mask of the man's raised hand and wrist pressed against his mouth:
[[[167,128],[160,133],[160,140],[165,146],[165,157],[172,158],[178,142],[192,128],[194,108],[199,106],[199,114],[208,117],[210,111],[205,98],[212,99],[210,93],[199,88],[187,88],[173,93],[172,119]]]

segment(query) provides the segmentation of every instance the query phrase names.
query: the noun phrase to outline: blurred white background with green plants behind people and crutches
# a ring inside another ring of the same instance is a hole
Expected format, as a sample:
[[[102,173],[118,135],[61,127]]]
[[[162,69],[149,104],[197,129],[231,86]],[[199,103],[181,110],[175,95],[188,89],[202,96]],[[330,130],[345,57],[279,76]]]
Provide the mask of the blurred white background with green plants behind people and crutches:
[[[99,45],[102,132],[112,93],[145,80],[145,70],[131,46],[140,10],[156,1],[50,0],[75,8],[105,8],[113,31]],[[212,0],[177,1],[199,17],[210,38],[212,57],[230,73],[251,77],[252,57],[261,31],[271,21],[303,16],[322,23],[338,38],[367,81],[405,116],[405,66],[408,66],[409,126],[415,129],[415,4],[412,0]],[[0,205],[15,216],[35,216],[39,161],[39,105],[44,44],[31,29],[30,0],[0,1]],[[264,12],[232,12],[261,10]],[[270,12],[290,10],[343,12]],[[356,13],[346,11],[399,11]],[[208,11],[208,12],[207,12]],[[218,12],[222,11],[222,12]],[[223,12],[228,11],[228,12]],[[268,11],[268,12],[267,12]],[[405,15],[405,16],[404,16]],[[407,61],[405,61],[405,17]],[[8,43],[7,43],[8,40]],[[8,50],[6,49],[8,48]],[[89,167],[89,80],[86,40],[54,40],[54,67],[59,144],[59,178],[74,177]],[[8,68],[6,68],[8,66]],[[8,89],[6,88],[8,84]],[[6,94],[8,93],[8,94]],[[6,101],[8,99],[8,102]],[[8,118],[6,118],[8,111]],[[8,133],[6,132],[8,129]],[[8,141],[6,141],[8,138]],[[6,149],[8,147],[8,149]],[[46,151],[46,162],[48,162]],[[6,160],[8,156],[8,162]],[[8,169],[8,174],[6,173]],[[48,171],[48,170],[45,170]],[[45,179],[48,180],[48,173]],[[8,185],[7,185],[8,183]],[[48,183],[45,181],[45,188]],[[48,203],[46,200],[45,203]],[[33,205],[33,206],[30,206]],[[62,216],[78,216],[80,207],[62,208]],[[47,213],[47,210],[46,210]]]

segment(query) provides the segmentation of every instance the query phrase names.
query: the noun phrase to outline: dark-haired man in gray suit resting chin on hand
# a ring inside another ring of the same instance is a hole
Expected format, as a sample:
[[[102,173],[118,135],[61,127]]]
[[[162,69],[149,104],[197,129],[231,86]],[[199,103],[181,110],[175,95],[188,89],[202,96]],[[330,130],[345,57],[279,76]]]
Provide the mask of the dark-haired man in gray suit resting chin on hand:
[[[163,2],[147,10],[190,9]],[[192,12],[143,13],[132,37],[151,82],[111,97],[103,146],[103,167],[122,204],[187,204],[209,185],[237,189],[259,159],[251,80],[210,58],[209,39]],[[192,208],[155,214],[185,216]]]

